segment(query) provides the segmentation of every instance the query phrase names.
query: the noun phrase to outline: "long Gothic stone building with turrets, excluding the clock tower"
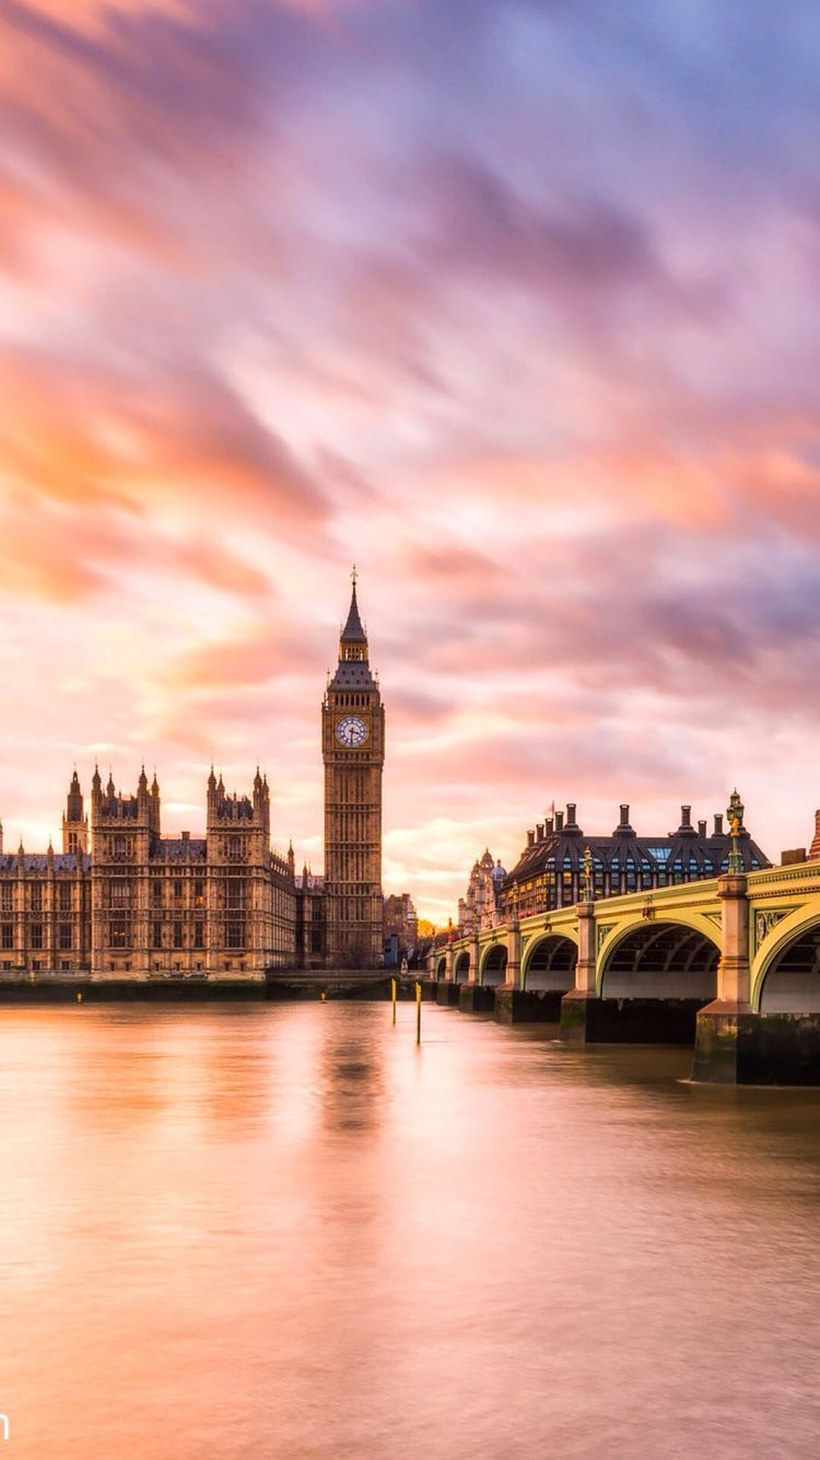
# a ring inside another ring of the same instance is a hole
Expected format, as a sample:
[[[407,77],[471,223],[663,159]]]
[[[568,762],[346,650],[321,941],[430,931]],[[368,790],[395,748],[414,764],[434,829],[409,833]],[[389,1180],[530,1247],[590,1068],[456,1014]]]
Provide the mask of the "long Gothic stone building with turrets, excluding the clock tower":
[[[0,856],[0,971],[108,978],[261,978],[293,964],[293,856],[270,848],[270,796],[229,796],[213,771],[206,835],[163,837],[156,777],[134,796],[77,774],[63,851]]]

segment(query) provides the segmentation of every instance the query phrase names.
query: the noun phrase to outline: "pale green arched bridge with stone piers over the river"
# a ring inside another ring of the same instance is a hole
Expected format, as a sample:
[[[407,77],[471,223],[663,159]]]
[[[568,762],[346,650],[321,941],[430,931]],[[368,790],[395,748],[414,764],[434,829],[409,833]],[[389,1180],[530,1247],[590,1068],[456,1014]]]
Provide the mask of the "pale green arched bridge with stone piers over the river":
[[[695,1038],[696,1079],[820,1085],[820,861],[540,912],[436,949],[429,977],[575,1042]]]

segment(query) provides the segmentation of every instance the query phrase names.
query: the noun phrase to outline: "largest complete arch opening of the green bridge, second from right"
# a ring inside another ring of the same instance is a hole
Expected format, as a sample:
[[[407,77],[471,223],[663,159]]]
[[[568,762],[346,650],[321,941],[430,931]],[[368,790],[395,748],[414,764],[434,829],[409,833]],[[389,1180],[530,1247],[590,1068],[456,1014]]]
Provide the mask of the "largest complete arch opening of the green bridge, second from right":
[[[603,999],[687,999],[718,996],[719,933],[711,924],[674,918],[632,923],[604,950],[597,972]]]

